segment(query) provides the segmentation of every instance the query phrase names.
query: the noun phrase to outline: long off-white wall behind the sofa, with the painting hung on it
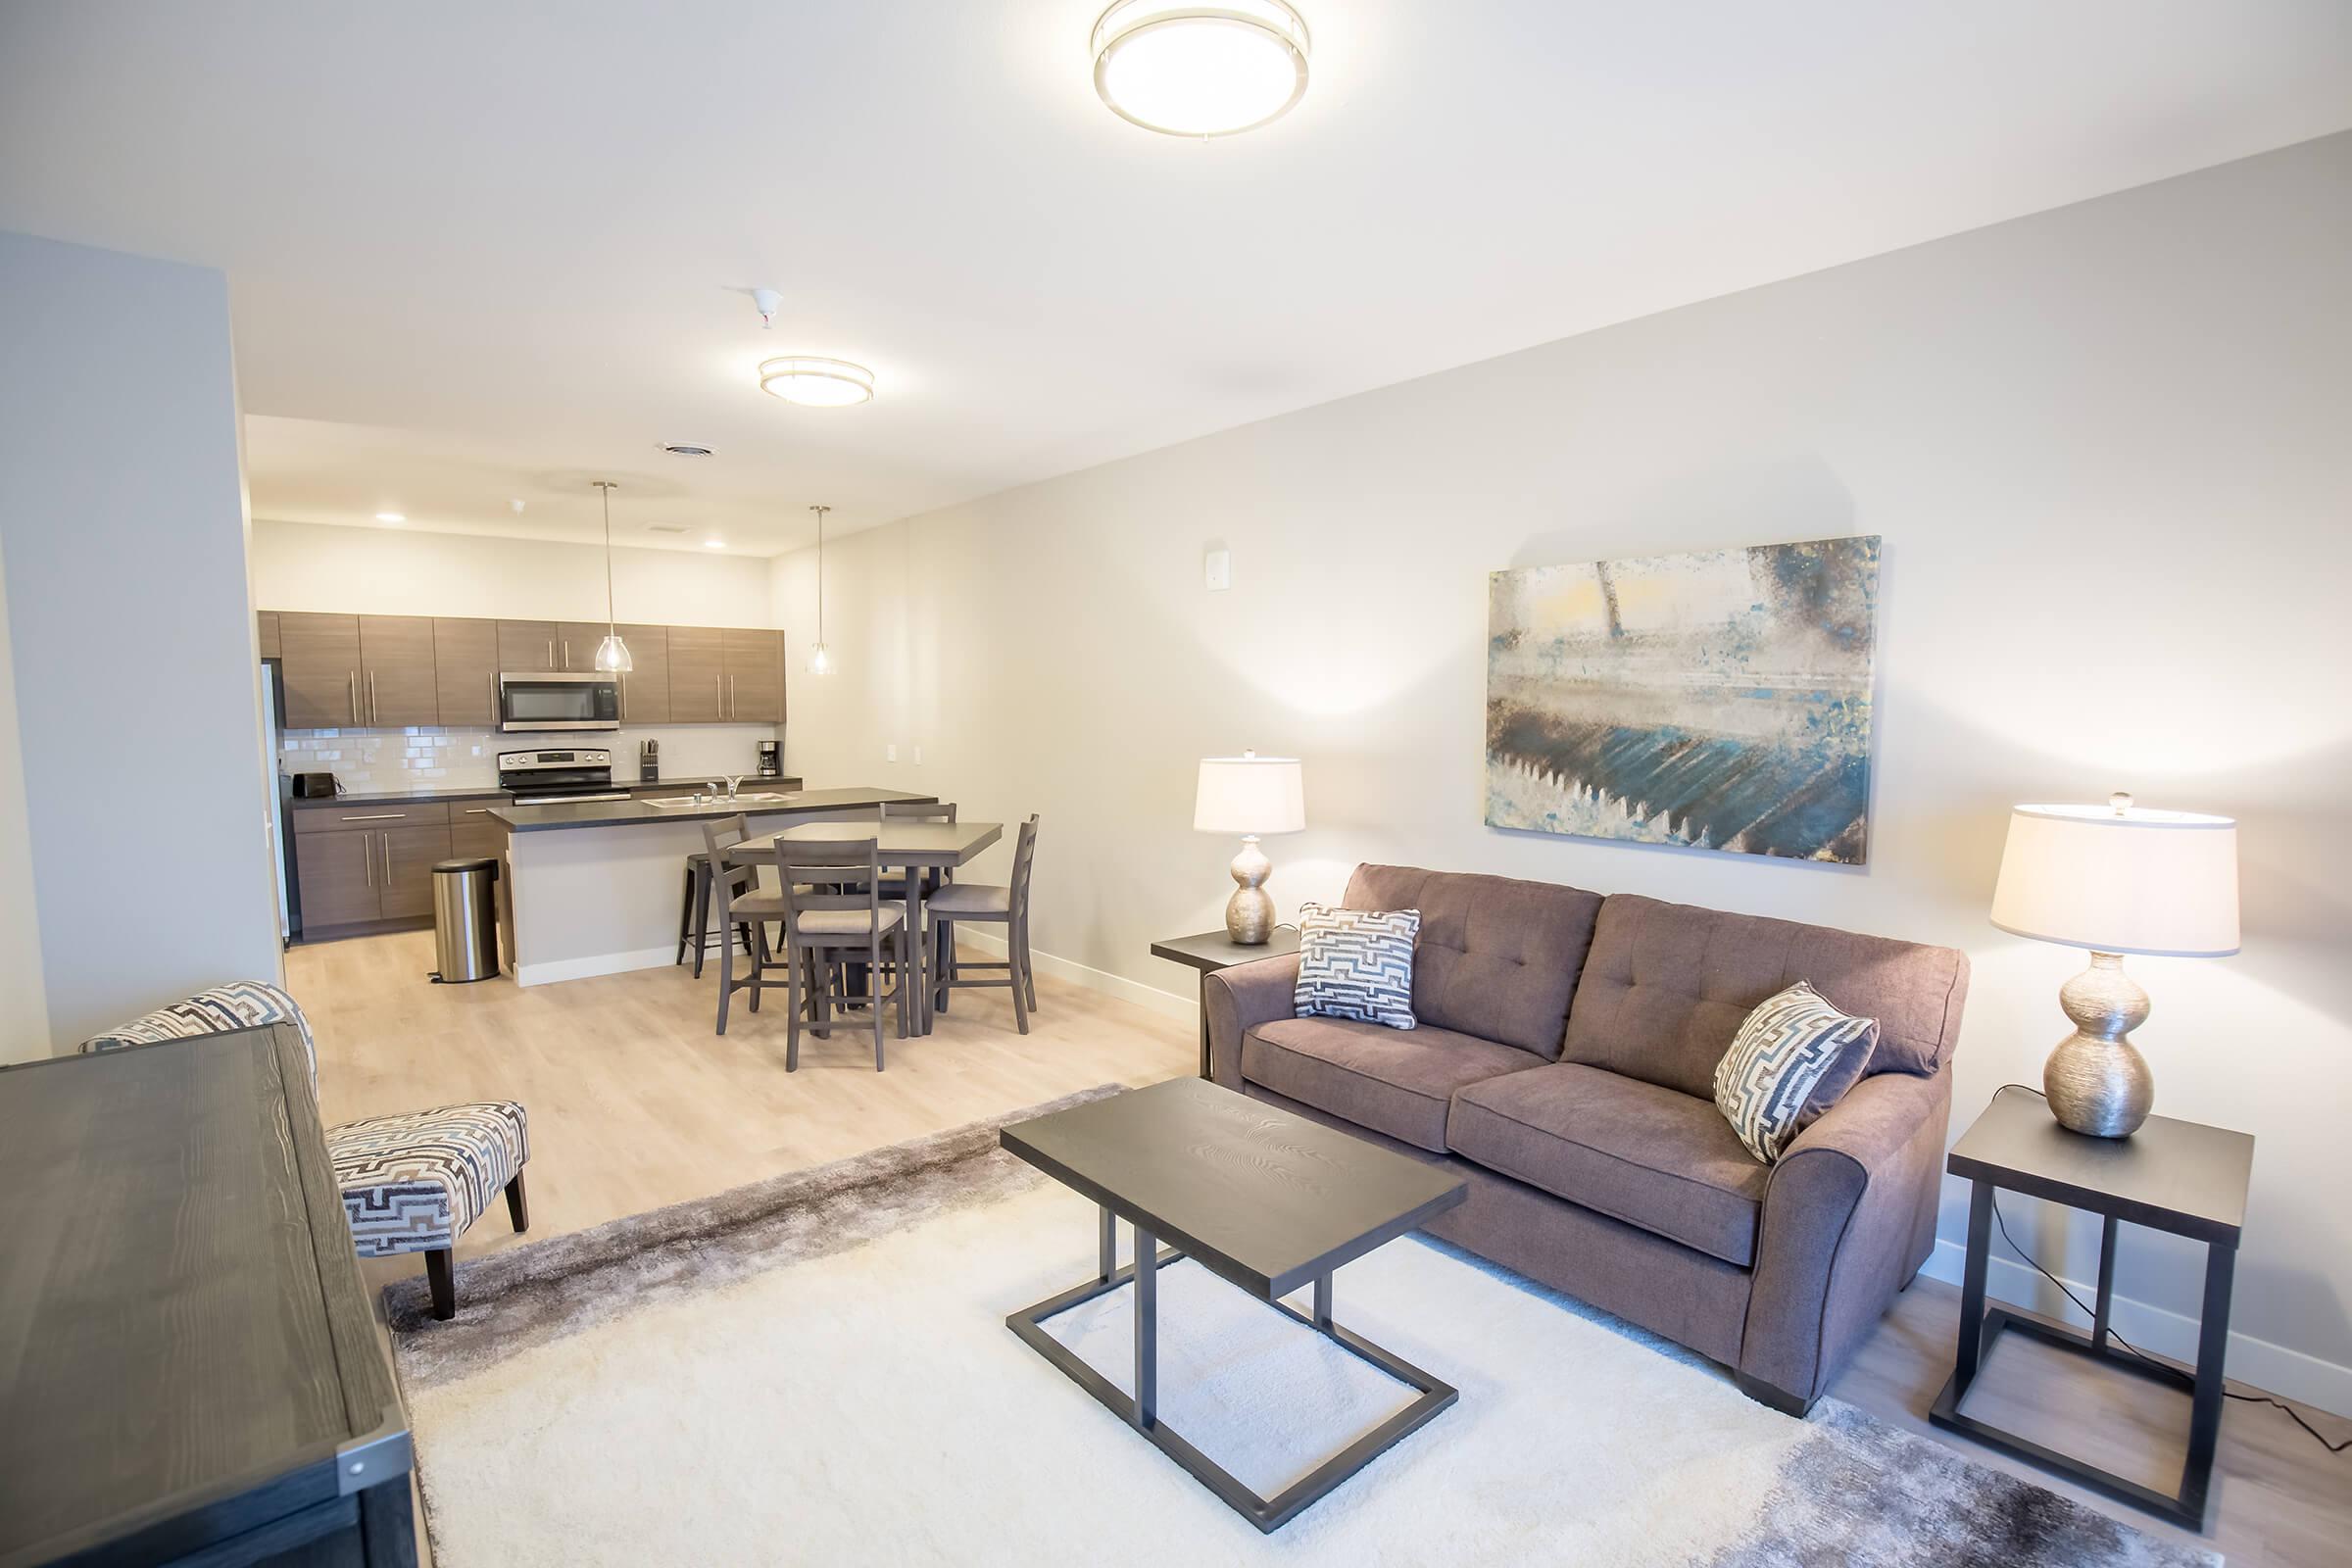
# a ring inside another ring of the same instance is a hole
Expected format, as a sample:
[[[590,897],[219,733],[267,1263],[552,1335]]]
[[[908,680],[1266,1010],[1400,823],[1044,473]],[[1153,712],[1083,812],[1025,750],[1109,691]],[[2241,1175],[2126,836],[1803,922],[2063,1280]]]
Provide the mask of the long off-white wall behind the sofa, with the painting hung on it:
[[[1955,1133],[2082,969],[1985,922],[2009,804],[2232,813],[2244,957],[2133,959],[2140,1044],[2159,1112],[2260,1140],[2232,1371],[2352,1410],[2347,256],[2336,136],[856,534],[788,762],[1042,811],[1037,945],[1129,994],[1190,997],[1145,950],[1218,924],[1192,769],[1242,745],[1305,757],[1284,912],[1371,858],[1952,943]],[[1482,825],[1486,571],[1835,534],[1886,541],[1865,870]],[[2126,1237],[2124,1333],[2187,1349],[2199,1255]]]

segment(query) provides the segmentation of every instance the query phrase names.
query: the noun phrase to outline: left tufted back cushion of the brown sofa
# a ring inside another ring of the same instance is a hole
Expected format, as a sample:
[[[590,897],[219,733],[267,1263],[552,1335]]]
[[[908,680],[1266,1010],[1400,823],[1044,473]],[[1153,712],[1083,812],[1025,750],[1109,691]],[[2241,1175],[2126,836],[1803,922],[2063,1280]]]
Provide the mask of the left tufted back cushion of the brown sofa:
[[[1569,997],[1592,945],[1602,896],[1557,882],[1515,882],[1357,865],[1350,910],[1421,910],[1414,1016],[1439,1030],[1559,1056]]]

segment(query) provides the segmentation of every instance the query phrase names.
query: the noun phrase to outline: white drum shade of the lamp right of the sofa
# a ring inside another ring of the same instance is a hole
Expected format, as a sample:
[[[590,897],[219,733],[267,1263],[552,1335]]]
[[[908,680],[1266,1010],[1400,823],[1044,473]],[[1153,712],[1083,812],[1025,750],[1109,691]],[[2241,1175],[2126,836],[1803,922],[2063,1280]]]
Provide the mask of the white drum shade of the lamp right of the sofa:
[[[2096,952],[2237,952],[2237,823],[2140,806],[2018,806],[1992,924]]]

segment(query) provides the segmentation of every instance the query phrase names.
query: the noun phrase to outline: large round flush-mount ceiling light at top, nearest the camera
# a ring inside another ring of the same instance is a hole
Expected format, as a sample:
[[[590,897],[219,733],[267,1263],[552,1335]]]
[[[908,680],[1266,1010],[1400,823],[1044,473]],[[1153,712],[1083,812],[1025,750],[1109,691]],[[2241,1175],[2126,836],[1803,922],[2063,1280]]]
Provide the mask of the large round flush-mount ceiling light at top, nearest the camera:
[[[1308,92],[1308,24],[1282,0],[1117,0],[1094,24],[1094,92],[1169,136],[1232,136]]]

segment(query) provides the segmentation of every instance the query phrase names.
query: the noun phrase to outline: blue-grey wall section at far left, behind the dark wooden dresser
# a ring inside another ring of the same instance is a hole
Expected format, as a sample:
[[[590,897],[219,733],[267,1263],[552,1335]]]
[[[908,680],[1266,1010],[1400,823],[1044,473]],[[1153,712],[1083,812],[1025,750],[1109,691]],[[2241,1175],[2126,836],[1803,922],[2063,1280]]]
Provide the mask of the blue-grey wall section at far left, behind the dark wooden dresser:
[[[228,284],[0,235],[0,343],[26,860],[49,1039],[71,1048],[280,973]],[[21,877],[0,898],[21,929]]]

